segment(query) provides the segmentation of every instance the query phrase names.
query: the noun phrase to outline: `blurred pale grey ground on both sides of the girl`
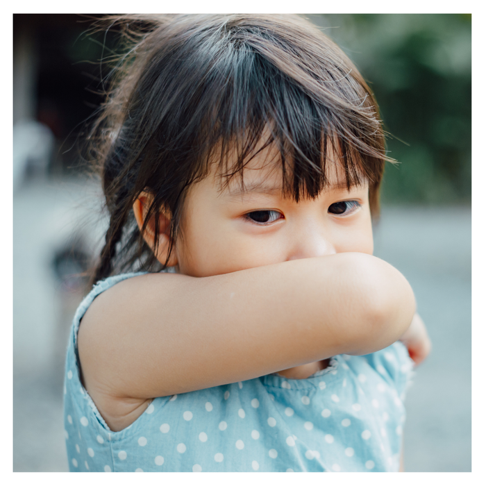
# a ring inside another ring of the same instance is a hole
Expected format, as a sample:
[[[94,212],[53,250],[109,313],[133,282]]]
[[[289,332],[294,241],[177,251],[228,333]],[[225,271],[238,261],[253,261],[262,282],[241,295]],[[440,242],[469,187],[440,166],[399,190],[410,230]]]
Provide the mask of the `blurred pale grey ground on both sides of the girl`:
[[[67,471],[64,353],[81,294],[60,287],[51,261],[75,233],[96,242],[98,211],[81,179],[32,182],[14,196],[14,471]],[[408,393],[405,469],[471,471],[471,210],[384,208],[375,235],[433,341]]]

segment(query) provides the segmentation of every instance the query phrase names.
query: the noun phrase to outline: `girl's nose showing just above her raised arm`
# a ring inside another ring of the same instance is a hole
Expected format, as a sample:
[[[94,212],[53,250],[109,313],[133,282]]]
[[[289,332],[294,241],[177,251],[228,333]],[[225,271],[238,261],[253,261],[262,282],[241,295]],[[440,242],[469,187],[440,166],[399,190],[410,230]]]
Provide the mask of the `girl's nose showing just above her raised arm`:
[[[300,260],[337,253],[333,237],[326,228],[309,224],[294,232],[287,260]]]

